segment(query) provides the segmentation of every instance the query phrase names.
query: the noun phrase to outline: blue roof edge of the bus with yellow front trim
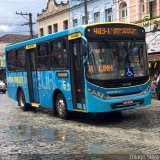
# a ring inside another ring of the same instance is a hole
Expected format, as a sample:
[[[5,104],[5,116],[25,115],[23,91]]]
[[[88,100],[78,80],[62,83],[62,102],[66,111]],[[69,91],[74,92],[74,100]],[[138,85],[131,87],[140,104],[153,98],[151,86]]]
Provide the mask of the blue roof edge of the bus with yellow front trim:
[[[20,48],[20,47],[24,47],[24,46],[27,46],[27,45],[30,45],[30,44],[40,43],[40,42],[51,40],[51,39],[58,38],[58,37],[67,36],[67,35],[77,33],[77,32],[81,32],[82,35],[84,35],[84,30],[85,30],[86,27],[100,25],[100,24],[126,24],[126,25],[133,25],[133,26],[137,26],[137,27],[142,27],[142,26],[137,25],[137,24],[124,23],[124,22],[103,22],[103,23],[87,24],[87,25],[82,25],[82,26],[78,26],[78,27],[73,27],[73,28],[63,30],[63,31],[60,31],[60,32],[56,32],[56,33],[53,33],[53,34],[49,34],[49,35],[46,35],[46,36],[38,37],[38,38],[35,38],[35,39],[30,39],[30,40],[27,40],[27,41],[12,44],[12,45],[7,46],[5,48],[5,51]]]

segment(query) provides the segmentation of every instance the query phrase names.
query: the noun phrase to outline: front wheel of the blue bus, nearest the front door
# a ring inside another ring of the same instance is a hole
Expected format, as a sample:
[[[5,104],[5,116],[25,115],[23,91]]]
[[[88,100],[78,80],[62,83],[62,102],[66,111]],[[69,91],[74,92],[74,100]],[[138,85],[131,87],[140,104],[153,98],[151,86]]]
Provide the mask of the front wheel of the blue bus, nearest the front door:
[[[60,90],[55,90],[53,94],[53,109],[61,119],[68,119],[69,111],[67,110],[67,103],[65,96]]]

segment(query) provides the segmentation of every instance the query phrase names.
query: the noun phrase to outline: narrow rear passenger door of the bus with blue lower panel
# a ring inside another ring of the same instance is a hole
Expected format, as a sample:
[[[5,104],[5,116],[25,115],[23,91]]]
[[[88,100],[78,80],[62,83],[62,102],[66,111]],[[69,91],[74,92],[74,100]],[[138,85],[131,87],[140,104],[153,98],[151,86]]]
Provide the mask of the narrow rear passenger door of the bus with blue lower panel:
[[[38,78],[36,69],[36,49],[27,50],[27,79],[30,102],[39,102]]]

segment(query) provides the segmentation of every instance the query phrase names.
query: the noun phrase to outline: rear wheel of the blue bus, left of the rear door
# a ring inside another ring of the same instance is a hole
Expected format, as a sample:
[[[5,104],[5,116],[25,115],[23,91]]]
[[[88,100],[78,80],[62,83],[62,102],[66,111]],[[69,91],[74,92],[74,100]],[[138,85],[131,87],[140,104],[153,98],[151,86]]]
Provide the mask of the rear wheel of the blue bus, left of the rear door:
[[[23,111],[27,111],[28,110],[28,106],[26,104],[25,95],[24,95],[24,92],[22,90],[20,90],[18,92],[18,105],[21,107],[21,109]]]

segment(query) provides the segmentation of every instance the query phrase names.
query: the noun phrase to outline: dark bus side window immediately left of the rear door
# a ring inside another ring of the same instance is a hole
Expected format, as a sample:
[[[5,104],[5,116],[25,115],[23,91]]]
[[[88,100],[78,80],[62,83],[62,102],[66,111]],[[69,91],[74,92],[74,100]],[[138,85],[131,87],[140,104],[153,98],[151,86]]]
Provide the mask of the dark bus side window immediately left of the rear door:
[[[25,61],[25,49],[20,48],[16,50],[16,70],[24,71],[26,69],[26,61]]]

